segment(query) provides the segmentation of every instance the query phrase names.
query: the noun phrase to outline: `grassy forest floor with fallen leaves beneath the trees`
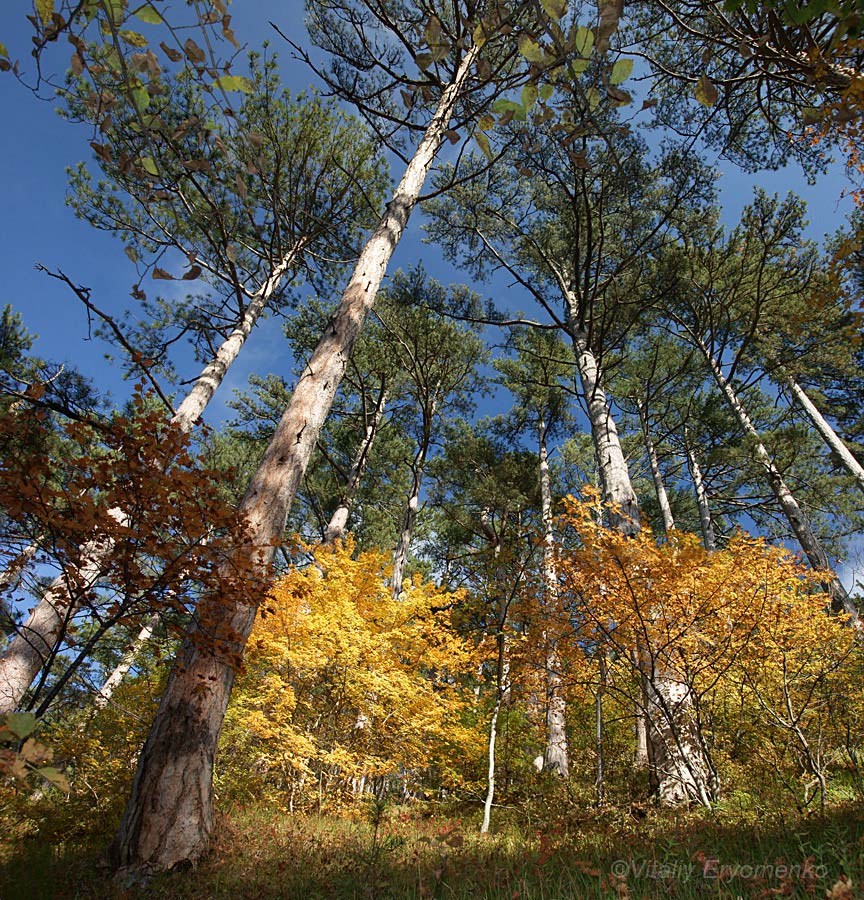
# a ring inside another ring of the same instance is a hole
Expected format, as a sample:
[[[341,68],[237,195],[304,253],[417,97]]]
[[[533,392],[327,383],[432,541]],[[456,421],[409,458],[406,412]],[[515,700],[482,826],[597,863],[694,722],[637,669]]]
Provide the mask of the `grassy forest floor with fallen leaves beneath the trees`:
[[[807,817],[606,808],[549,821],[506,809],[490,836],[478,826],[475,810],[431,804],[344,817],[235,809],[201,866],[146,888],[114,883],[96,841],[28,841],[0,870],[0,900],[864,897],[861,804]]]

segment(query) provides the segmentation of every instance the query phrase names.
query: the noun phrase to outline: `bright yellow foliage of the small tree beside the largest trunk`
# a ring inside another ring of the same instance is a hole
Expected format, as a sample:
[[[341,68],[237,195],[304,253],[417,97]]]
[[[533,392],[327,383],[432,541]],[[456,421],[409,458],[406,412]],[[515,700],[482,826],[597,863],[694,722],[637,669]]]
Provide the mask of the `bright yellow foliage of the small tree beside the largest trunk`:
[[[398,600],[388,557],[349,539],[309,548],[279,579],[249,640],[219,784],[277,794],[446,765],[482,740],[461,723],[475,650],[450,627],[460,594],[415,579]]]

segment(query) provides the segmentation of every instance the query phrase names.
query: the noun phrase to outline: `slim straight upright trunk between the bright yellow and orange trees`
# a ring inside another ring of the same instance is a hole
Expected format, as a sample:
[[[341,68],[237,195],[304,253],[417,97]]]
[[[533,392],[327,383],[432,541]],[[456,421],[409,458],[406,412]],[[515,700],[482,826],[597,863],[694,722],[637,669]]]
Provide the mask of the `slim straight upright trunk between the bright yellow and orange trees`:
[[[549,475],[549,451],[546,446],[546,423],[541,418],[537,427],[540,455],[540,501],[543,516],[543,581],[546,594],[546,618],[560,614],[558,572],[555,565],[555,535],[552,527],[552,479]],[[557,629],[555,629],[557,630]],[[567,701],[561,678],[558,641],[545,635],[544,668],[546,669],[546,748],[543,771],[567,777],[570,773],[567,754]]]

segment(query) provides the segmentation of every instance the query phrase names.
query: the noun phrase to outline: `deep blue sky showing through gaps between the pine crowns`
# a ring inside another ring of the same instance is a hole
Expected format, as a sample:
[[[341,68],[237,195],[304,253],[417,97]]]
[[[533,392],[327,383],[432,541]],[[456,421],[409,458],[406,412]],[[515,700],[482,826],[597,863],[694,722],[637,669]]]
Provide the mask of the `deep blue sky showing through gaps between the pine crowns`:
[[[237,0],[232,13],[241,43],[255,48],[265,39],[272,41],[282,57],[289,87],[301,90],[313,83],[312,73],[289,59],[288,48],[280,47],[283,42],[269,25],[272,19],[290,36],[304,38],[299,0],[281,3]],[[23,8],[12,13],[7,7],[5,15],[0,16],[0,40],[13,58],[22,61],[25,73],[32,70],[28,55],[29,27]],[[62,71],[67,55],[68,45],[52,48],[50,65],[54,71]],[[4,127],[0,130],[0,198],[5,212],[0,242],[0,265],[4,273],[0,302],[13,304],[23,314],[28,328],[39,335],[36,352],[76,365],[99,387],[110,389],[115,399],[121,400],[128,392],[128,385],[119,380],[116,368],[104,359],[110,348],[98,339],[88,339],[85,311],[68,288],[34,269],[40,262],[63,269],[73,280],[90,287],[94,302],[114,314],[134,305],[129,289],[135,272],[121,243],[78,221],[64,204],[65,168],[91,157],[89,131],[62,121],[55,111],[56,102],[50,99],[48,91],[44,93],[49,99],[39,100],[10,73],[0,76],[0,108],[4,113]],[[808,202],[814,237],[838,227],[849,208],[848,201],[840,200],[845,182],[836,167],[813,187],[794,168],[754,178],[727,166],[720,180],[727,221],[735,221],[756,184],[769,191],[794,190],[801,194]],[[463,280],[441,260],[434,248],[421,243],[418,220],[415,216],[392,268],[422,258],[426,268],[439,280]],[[497,285],[498,290],[500,287]],[[488,290],[483,286],[479,289],[483,293]],[[251,371],[290,372],[278,327],[269,324],[271,327],[262,328],[244,350],[231,373],[229,387],[245,383]],[[185,374],[191,376],[194,371],[190,368]],[[211,421],[218,422],[224,415],[226,397],[227,392],[223,390],[220,402],[210,411]]]

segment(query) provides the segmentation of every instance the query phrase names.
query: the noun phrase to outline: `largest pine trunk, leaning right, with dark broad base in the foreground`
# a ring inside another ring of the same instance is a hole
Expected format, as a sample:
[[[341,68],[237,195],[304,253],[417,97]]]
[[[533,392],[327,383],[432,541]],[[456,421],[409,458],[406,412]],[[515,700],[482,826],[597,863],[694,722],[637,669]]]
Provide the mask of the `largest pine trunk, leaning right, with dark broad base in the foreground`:
[[[241,561],[269,569],[274,547],[318,440],[351,350],[380,287],[478,48],[469,50],[443,92],[423,140],[393,199],[360,253],[336,313],[300,377],[258,470],[240,505],[247,541]],[[230,572],[230,569],[228,570]],[[255,621],[257,603],[220,602],[206,596],[198,618],[215,621],[233,636],[241,653]],[[230,660],[206,653],[194,635],[184,642],[168,679],[150,735],[138,761],[132,793],[111,855],[116,866],[136,872],[195,862],[207,851],[213,829],[213,761],[234,683]]]

